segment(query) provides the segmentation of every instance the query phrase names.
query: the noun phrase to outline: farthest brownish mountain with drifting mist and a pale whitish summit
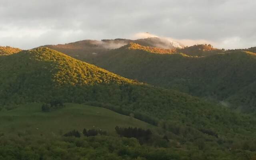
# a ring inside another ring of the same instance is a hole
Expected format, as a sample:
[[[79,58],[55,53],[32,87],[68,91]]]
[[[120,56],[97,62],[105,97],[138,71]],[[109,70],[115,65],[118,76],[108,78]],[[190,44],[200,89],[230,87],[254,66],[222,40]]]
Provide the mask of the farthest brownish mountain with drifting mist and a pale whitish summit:
[[[46,45],[44,47],[51,48],[53,50],[58,50],[74,58],[85,60],[92,59],[95,56],[104,54],[105,52],[120,48],[129,43],[137,43],[142,46],[150,46],[164,49],[174,49],[182,48],[183,45],[178,42],[170,42],[163,38],[150,37],[138,40],[128,40],[128,39],[114,39],[114,40],[82,40],[78,42],[72,42],[68,44],[58,44],[58,45]]]

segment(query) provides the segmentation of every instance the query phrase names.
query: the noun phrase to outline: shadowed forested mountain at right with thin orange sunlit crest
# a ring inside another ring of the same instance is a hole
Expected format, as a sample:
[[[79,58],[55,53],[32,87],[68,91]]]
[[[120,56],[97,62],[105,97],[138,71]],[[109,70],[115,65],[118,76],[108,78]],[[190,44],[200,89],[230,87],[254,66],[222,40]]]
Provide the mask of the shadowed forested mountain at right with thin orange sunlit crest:
[[[201,47],[205,49],[195,56],[195,48]],[[129,44],[87,61],[130,79],[227,102],[225,104],[232,102],[232,107],[243,108],[244,112],[255,110],[256,94],[247,92],[256,79],[255,53],[218,50],[208,45],[179,50],[186,54]]]

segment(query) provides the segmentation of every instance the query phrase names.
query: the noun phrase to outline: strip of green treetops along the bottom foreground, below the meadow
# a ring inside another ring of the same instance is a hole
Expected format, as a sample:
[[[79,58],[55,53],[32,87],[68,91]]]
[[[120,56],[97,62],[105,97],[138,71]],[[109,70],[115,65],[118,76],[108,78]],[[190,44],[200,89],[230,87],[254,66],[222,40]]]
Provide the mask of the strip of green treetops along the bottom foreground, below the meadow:
[[[256,152],[222,149],[162,148],[141,145],[136,138],[114,136],[0,137],[1,160],[255,160]]]

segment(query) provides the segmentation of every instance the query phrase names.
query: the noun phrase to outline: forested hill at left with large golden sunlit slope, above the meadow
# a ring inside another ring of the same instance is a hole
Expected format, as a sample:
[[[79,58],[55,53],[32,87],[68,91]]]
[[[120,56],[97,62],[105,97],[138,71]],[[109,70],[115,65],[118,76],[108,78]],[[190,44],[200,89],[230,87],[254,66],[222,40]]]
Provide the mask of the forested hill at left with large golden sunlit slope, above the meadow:
[[[205,107],[213,110],[211,114],[220,110],[218,106],[188,94],[138,83],[49,48],[0,57],[0,74],[2,105],[52,99],[97,102],[122,106],[156,118],[197,124],[200,120],[193,122],[191,118],[197,112],[204,112]],[[179,110],[190,110],[193,114],[181,119],[180,114],[185,113]]]

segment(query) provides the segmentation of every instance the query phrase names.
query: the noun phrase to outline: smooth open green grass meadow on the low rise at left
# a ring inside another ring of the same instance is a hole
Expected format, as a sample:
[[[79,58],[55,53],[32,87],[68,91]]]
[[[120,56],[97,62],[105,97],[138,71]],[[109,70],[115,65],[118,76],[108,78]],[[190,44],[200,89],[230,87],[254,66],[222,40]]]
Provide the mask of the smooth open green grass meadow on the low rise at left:
[[[115,134],[116,126],[156,128],[150,124],[118,114],[105,108],[80,104],[65,104],[64,108],[42,112],[41,104],[18,106],[0,111],[0,133],[4,134],[57,134],[76,129],[102,129]]]

